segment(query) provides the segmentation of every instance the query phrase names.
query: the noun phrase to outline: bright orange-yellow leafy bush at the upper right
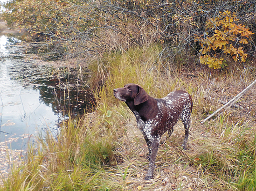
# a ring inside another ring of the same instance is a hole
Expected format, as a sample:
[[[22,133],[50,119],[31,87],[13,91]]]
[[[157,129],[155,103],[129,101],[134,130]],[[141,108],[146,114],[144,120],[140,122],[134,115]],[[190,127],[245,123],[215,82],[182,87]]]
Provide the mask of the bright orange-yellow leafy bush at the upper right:
[[[248,44],[247,39],[253,33],[245,25],[237,25],[237,22],[236,13],[231,14],[230,11],[219,12],[218,17],[207,20],[205,27],[207,32],[197,38],[202,47],[200,63],[208,64],[214,69],[221,68],[225,65],[222,53],[232,56],[234,61],[239,58],[241,62],[246,61],[247,54],[244,53],[243,45]]]

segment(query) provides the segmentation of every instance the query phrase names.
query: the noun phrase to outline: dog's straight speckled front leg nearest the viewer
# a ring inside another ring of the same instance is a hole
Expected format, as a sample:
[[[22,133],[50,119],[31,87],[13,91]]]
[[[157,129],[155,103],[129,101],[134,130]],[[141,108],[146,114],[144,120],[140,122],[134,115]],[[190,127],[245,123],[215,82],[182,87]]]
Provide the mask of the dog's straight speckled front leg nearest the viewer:
[[[149,161],[148,173],[145,177],[145,180],[153,179],[153,172],[155,170],[156,154],[157,154],[158,146],[160,143],[160,137],[152,138],[151,143],[152,143],[151,156],[150,156],[150,161]]]

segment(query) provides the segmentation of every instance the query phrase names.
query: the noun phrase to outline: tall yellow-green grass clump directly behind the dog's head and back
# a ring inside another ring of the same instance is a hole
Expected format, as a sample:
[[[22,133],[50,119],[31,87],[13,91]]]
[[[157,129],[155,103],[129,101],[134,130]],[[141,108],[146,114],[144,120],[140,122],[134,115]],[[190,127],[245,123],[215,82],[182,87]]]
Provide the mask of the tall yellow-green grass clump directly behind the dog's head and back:
[[[113,89],[128,83],[140,84],[153,97],[164,97],[184,82],[176,78],[159,60],[160,46],[129,49],[127,52],[106,53],[98,63],[91,66],[92,80],[102,86],[96,96],[100,102],[115,103]],[[189,85],[188,85],[189,86]]]

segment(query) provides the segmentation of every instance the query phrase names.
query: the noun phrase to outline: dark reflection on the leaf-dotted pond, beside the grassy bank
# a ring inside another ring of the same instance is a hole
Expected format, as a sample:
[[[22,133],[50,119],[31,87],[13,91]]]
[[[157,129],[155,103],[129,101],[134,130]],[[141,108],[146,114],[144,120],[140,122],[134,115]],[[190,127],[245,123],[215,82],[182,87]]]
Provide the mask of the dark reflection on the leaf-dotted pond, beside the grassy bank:
[[[51,78],[39,86],[40,100],[52,107],[54,112],[68,117],[79,116],[93,108],[94,98],[84,84],[77,84],[75,75],[68,78]]]

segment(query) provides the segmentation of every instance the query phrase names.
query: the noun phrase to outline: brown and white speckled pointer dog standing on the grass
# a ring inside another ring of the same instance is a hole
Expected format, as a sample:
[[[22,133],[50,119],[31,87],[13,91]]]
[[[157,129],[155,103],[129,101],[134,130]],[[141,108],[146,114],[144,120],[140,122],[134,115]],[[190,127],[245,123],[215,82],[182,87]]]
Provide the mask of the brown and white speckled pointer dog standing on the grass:
[[[181,119],[184,124],[185,138],[182,146],[184,150],[186,149],[193,105],[192,98],[189,93],[178,90],[169,93],[162,99],[155,99],[136,84],[127,84],[114,89],[114,96],[125,101],[136,117],[137,126],[143,134],[149,150],[150,161],[145,179],[152,179],[161,135],[168,130],[167,138],[169,138],[178,119]]]

